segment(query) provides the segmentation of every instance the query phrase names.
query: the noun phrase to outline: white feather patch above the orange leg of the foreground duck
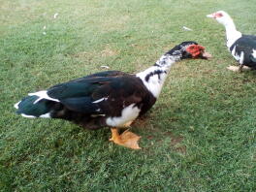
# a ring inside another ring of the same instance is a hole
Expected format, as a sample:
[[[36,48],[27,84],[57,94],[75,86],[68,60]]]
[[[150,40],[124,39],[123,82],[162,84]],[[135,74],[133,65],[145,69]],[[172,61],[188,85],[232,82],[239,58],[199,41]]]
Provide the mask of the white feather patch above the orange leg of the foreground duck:
[[[112,116],[106,119],[106,124],[112,127],[126,127],[127,123],[134,121],[140,114],[141,110],[131,104],[124,108],[120,116]]]

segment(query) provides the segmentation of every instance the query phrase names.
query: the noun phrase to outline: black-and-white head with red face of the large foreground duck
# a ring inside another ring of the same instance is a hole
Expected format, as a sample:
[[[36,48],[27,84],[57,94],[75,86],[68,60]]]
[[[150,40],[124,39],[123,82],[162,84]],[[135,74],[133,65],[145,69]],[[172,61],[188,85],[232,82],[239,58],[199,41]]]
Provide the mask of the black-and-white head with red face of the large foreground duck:
[[[179,57],[179,59],[186,58],[202,58],[208,59],[211,55],[206,51],[206,48],[199,45],[196,42],[182,42],[175,48],[172,48],[167,52],[173,56]]]

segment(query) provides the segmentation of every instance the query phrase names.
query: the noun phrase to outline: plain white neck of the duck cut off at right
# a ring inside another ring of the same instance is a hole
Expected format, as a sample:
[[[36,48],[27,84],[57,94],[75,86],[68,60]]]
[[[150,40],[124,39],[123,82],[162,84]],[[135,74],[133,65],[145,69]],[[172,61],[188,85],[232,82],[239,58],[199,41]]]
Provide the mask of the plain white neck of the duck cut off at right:
[[[241,33],[237,30],[232,18],[224,26],[226,28],[227,47],[230,48],[241,37]]]

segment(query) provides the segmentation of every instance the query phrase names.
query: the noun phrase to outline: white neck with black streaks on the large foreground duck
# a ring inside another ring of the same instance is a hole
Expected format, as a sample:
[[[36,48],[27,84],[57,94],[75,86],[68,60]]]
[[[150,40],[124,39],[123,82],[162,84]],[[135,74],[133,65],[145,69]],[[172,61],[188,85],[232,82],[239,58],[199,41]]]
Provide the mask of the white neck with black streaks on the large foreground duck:
[[[155,98],[158,98],[170,68],[176,63],[176,61],[180,60],[180,58],[181,56],[174,56],[166,53],[162,55],[152,67],[149,67],[144,70],[144,72],[137,74],[136,77],[143,80],[146,88]]]

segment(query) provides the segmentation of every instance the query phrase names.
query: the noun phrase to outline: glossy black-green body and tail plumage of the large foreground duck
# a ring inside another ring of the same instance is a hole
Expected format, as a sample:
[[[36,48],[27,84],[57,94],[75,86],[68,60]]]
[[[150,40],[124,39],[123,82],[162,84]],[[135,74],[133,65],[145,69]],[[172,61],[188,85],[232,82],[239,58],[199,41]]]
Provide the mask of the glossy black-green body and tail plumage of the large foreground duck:
[[[39,97],[28,96],[18,105],[18,112],[34,116],[49,112],[52,118],[98,129],[106,126],[107,117],[120,116],[122,110],[131,104],[135,104],[143,114],[156,101],[141,79],[118,71],[101,72],[56,84],[48,88],[47,93],[56,101],[42,99],[35,106],[33,103]]]

